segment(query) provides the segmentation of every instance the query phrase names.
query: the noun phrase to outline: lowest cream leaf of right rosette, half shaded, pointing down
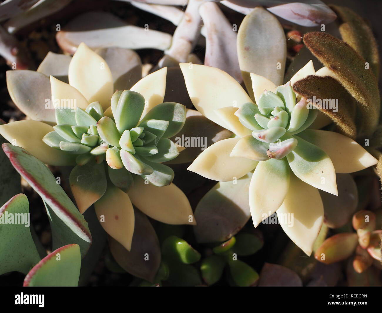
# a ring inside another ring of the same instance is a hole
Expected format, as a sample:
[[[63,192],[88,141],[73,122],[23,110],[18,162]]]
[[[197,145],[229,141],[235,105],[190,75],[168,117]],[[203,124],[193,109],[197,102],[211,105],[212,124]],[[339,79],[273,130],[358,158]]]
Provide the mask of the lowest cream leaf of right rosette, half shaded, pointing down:
[[[289,190],[276,213],[285,234],[310,256],[324,221],[324,206],[318,190],[291,173]]]

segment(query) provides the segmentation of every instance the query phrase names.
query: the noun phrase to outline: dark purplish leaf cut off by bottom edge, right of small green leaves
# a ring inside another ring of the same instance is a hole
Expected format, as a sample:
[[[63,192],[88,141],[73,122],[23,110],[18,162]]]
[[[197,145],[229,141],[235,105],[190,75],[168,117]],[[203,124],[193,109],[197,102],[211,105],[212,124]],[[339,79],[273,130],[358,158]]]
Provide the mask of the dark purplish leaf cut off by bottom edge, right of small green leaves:
[[[258,286],[301,287],[301,278],[292,270],[278,264],[265,263]]]

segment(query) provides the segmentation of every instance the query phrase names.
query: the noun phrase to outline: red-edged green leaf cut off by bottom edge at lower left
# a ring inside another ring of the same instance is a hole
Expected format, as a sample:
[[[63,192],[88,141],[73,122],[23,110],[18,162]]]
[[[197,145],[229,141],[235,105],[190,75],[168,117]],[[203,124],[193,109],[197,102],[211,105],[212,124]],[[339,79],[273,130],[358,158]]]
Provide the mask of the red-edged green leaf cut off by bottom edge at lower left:
[[[37,263],[25,277],[23,286],[77,287],[80,269],[79,245],[75,243],[66,245],[53,251]]]

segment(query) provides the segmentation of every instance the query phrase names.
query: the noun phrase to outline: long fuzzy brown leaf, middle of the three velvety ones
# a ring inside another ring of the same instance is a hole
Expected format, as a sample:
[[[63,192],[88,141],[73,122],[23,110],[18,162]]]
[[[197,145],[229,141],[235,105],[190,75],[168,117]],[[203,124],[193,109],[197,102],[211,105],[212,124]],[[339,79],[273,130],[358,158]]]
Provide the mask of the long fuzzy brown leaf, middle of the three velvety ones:
[[[377,126],[380,106],[378,84],[373,72],[365,68],[365,60],[350,45],[324,32],[304,35],[304,43],[312,53],[337,75],[338,81],[360,102],[363,115],[369,117],[364,124],[365,133]]]

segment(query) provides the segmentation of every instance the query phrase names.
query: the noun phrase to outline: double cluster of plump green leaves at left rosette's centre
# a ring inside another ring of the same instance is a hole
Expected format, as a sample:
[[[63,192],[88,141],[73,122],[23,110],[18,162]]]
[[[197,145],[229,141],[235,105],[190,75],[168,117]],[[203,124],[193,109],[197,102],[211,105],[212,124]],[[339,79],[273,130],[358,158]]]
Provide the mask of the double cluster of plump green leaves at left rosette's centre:
[[[162,103],[141,119],[144,106],[141,94],[125,90],[113,94],[111,112],[108,110],[110,116],[104,116],[99,102],[92,102],[86,110],[56,108],[57,125],[43,141],[53,148],[78,154],[78,165],[91,160],[99,164],[106,159],[112,169],[125,167],[131,174],[144,177],[160,167],[162,175],[149,177],[149,180],[157,186],[168,185],[172,182],[173,171],[158,163],[170,161],[179,154],[168,137],[183,127],[185,106]],[[166,117],[170,112],[171,118],[170,115]],[[173,115],[176,120],[172,120]]]

